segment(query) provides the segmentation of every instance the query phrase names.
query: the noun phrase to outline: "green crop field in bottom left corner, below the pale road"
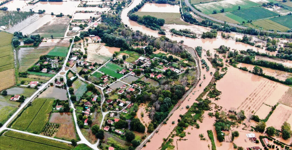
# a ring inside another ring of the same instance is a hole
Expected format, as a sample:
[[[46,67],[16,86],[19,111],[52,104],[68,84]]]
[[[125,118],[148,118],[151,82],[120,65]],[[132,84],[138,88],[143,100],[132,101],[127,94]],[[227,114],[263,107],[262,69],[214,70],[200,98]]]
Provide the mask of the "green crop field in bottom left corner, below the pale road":
[[[6,131],[0,137],[0,149],[1,150],[31,150],[31,149],[42,149],[42,150],[70,150],[72,146],[67,143],[58,142],[42,137],[36,137],[33,135],[27,135],[14,131]]]

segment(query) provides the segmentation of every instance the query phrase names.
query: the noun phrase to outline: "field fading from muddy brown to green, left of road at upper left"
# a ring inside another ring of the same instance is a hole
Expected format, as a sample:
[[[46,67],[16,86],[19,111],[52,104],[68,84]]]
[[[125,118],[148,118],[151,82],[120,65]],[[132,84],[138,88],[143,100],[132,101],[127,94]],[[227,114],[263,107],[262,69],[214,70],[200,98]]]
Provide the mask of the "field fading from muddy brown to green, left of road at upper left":
[[[45,38],[50,38],[51,35],[53,37],[64,37],[69,21],[70,18],[55,17],[52,21],[44,24],[32,34],[39,34]]]

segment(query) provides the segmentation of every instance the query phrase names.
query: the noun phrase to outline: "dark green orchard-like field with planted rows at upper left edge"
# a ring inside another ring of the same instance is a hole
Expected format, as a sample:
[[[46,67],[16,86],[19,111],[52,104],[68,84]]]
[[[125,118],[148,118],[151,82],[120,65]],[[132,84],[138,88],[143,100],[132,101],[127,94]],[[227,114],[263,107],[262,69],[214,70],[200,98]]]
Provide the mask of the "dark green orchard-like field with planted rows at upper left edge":
[[[8,8],[9,10],[9,8]],[[6,26],[7,28],[12,27],[13,25],[17,24],[18,22],[24,20],[29,15],[33,13],[30,12],[18,12],[18,11],[3,11],[0,10],[0,26]]]

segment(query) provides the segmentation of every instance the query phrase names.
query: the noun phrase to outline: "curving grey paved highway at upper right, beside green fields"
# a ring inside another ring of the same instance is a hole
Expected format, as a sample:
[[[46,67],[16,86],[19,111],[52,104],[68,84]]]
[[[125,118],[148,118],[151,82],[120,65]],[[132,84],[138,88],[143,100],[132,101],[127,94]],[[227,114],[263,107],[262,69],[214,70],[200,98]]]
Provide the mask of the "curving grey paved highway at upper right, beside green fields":
[[[213,18],[213,17],[211,17],[211,16],[209,16],[209,15],[206,15],[206,14],[204,14],[204,13],[199,12],[197,9],[195,9],[195,8],[190,4],[189,0],[185,0],[185,3],[186,3],[186,5],[187,5],[188,7],[190,7],[195,13],[197,13],[197,14],[199,14],[199,15],[205,17],[205,18],[208,18],[209,20],[213,20],[213,21],[216,21],[216,22],[219,22],[219,23],[223,23],[223,24],[224,24],[224,21],[222,21],[222,20],[215,19],[215,18]],[[230,26],[232,26],[232,27],[237,27],[237,28],[241,28],[241,29],[246,29],[246,28],[247,28],[247,27],[240,26],[240,25],[233,24],[233,23],[229,23],[229,22],[226,22],[226,24],[228,24],[228,25],[230,25]],[[258,31],[259,31],[259,30],[258,30]],[[267,33],[274,33],[274,31],[267,31],[267,30],[262,30],[262,31],[267,32]],[[277,33],[278,33],[278,34],[289,34],[289,35],[292,34],[292,33],[290,33],[290,32],[277,32]]]

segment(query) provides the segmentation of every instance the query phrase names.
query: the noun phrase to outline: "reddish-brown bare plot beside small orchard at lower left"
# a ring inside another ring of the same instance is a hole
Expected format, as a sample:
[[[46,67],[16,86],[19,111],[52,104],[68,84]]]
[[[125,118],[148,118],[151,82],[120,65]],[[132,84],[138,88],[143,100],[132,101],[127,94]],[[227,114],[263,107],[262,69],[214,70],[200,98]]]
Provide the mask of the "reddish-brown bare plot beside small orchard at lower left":
[[[65,139],[76,139],[76,133],[71,113],[55,112],[51,115],[51,119],[49,122],[61,124],[57,134],[55,135],[56,137]]]

